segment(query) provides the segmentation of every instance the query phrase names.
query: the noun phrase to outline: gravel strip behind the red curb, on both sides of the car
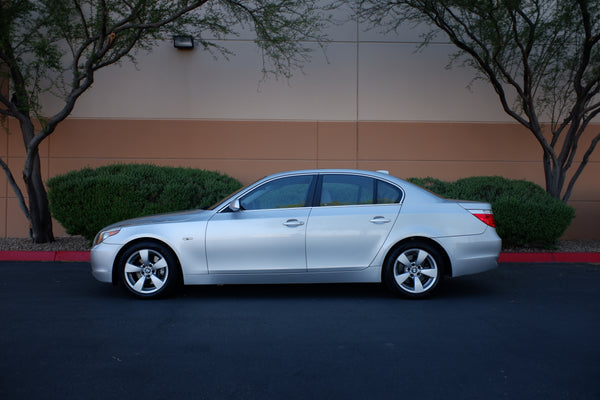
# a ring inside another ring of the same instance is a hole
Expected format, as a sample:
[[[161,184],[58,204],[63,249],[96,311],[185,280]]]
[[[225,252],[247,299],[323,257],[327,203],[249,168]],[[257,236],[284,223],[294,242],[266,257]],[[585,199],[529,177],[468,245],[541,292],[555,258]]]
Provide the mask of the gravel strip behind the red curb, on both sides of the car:
[[[90,243],[80,236],[57,237],[53,243],[35,244],[30,239],[0,238],[0,251],[87,251]],[[561,240],[556,249],[538,247],[504,248],[505,252],[600,252],[600,240]]]

